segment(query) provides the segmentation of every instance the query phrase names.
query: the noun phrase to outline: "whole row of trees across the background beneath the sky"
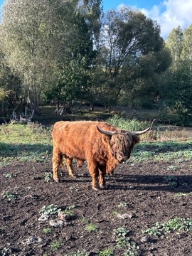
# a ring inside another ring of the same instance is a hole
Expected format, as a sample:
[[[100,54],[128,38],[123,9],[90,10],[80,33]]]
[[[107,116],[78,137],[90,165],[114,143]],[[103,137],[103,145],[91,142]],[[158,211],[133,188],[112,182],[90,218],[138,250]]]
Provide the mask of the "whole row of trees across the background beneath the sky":
[[[100,0],[6,0],[0,25],[0,115],[76,104],[147,108],[191,125],[192,24],[161,27]]]

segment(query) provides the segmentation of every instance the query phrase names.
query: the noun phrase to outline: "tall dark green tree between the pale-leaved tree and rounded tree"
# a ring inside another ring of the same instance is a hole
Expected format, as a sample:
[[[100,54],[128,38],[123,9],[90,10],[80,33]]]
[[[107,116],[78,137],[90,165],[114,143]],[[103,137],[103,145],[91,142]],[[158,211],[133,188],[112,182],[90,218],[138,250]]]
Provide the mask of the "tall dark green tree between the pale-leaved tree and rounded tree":
[[[95,66],[97,37],[100,30],[100,1],[82,1],[68,18],[70,40],[58,62],[58,83],[48,88],[46,97],[58,102],[92,102],[92,72]]]

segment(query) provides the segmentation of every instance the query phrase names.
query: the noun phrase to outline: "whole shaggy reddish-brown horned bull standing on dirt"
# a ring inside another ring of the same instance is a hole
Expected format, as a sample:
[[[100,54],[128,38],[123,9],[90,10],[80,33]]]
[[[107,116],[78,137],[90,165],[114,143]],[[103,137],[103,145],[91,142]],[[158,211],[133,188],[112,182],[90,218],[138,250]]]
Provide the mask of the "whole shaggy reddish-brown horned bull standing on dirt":
[[[106,122],[56,122],[52,132],[54,180],[60,182],[58,169],[63,158],[71,176],[75,176],[73,159],[78,160],[78,166],[86,160],[92,188],[103,188],[105,174],[113,174],[118,164],[129,159],[139,135],[148,130],[129,132]]]

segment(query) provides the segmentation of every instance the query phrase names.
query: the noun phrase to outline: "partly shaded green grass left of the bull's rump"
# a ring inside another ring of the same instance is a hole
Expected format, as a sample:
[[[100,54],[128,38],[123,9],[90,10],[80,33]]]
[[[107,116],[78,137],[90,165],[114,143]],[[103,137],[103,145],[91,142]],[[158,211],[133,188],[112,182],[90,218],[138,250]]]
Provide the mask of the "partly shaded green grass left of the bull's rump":
[[[0,166],[11,161],[48,161],[52,153],[50,129],[41,124],[4,124],[0,127]]]

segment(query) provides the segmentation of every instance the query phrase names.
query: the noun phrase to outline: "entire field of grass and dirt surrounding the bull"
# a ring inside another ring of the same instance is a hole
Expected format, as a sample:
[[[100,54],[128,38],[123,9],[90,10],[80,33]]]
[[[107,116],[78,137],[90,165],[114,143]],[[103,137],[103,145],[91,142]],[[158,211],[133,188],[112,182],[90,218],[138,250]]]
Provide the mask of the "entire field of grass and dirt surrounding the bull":
[[[107,122],[129,130],[152,124],[117,115]],[[78,181],[65,173],[63,183],[53,182],[51,130],[34,122],[0,126],[0,255],[191,255],[191,131],[154,123],[107,178],[109,188],[95,193],[86,164]],[[41,214],[55,220],[58,210],[69,218],[63,229],[38,223]],[[28,244],[31,237],[37,240]]]

